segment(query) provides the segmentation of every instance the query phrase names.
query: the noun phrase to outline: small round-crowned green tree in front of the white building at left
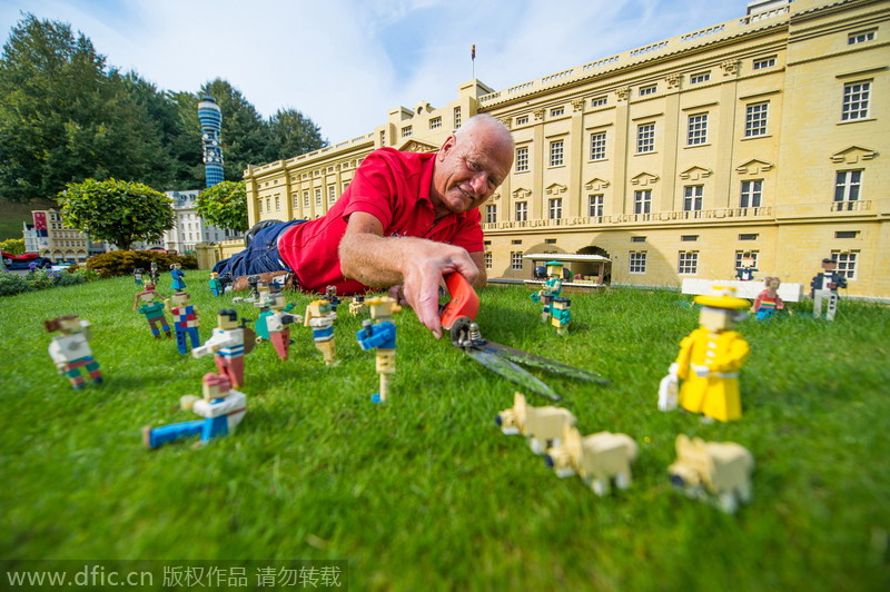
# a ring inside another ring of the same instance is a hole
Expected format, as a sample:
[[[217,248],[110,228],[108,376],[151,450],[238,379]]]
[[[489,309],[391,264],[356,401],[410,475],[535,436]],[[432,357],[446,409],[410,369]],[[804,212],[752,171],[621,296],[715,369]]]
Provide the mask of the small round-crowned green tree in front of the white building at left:
[[[170,198],[139,182],[87,179],[69,184],[58,199],[68,226],[122,250],[159,240],[176,223]]]

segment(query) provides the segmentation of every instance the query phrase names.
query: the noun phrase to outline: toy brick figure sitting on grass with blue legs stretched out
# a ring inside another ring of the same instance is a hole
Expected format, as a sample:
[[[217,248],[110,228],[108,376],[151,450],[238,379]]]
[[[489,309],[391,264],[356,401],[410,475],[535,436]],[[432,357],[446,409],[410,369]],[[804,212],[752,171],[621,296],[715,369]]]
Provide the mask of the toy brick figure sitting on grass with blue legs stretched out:
[[[192,422],[146,426],[142,428],[142,444],[146,448],[157,448],[169,442],[201,435],[200,444],[222,437],[235,431],[247,413],[247,397],[231,388],[228,376],[208,373],[204,375],[204,398],[186,395],[179,399],[180,407],[205,417]]]

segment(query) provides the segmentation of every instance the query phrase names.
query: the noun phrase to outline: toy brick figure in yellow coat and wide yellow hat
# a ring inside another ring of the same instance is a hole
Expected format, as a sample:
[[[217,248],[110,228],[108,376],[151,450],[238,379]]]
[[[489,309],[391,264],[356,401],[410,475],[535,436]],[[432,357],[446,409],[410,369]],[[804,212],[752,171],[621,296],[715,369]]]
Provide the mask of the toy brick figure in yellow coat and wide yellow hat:
[[[701,326],[680,343],[680,354],[659,386],[659,408],[678,404],[708,420],[729,422],[742,416],[739,369],[748,357],[748,343],[731,330],[745,316],[748,300],[734,296],[735,288],[714,286],[713,294],[696,296],[702,305]]]

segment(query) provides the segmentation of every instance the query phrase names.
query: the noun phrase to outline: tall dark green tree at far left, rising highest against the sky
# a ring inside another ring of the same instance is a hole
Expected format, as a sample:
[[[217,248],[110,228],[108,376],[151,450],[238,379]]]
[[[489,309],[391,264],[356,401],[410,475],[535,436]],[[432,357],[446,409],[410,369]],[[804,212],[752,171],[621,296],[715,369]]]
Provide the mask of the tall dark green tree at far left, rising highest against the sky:
[[[89,38],[27,14],[0,57],[0,198],[47,197],[90,177],[166,184],[158,126],[134,86]]]

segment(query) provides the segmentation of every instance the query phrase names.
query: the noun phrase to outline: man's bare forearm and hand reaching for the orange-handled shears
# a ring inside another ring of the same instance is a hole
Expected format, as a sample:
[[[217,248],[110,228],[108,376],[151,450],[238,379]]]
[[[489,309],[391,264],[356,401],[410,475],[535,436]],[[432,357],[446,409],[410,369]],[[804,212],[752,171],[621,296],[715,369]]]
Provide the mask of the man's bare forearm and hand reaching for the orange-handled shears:
[[[369,286],[402,284],[408,305],[436,338],[442,337],[438,319],[442,276],[457,272],[475,285],[481,274],[476,262],[482,256],[474,255],[479,257],[462,247],[424,238],[384,238],[380,221],[364,211],[349,216],[339,246],[344,276]]]

